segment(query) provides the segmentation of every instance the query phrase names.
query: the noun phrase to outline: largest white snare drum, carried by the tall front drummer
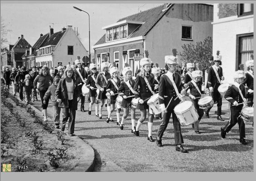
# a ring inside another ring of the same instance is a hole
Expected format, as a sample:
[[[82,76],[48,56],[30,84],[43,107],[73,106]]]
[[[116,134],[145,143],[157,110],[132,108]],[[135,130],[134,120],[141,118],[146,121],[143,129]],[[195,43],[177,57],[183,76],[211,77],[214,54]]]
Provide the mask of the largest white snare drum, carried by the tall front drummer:
[[[184,102],[176,105],[174,108],[174,113],[179,119],[180,124],[183,126],[193,124],[199,118],[193,103],[189,100],[185,100]]]

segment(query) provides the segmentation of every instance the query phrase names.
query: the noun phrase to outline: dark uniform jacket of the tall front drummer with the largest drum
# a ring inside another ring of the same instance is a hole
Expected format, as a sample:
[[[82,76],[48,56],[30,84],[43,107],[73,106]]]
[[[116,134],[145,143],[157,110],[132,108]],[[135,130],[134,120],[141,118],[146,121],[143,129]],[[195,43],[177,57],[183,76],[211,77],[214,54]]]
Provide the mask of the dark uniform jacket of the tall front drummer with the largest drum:
[[[178,73],[174,73],[175,77],[175,85],[177,86],[177,89],[179,93],[182,90],[180,75]],[[175,99],[177,97],[177,94],[174,90],[174,86],[172,82],[170,81],[169,77],[167,75],[163,75],[160,78],[159,82],[159,104],[164,104],[164,97],[168,96],[169,98],[173,97]]]

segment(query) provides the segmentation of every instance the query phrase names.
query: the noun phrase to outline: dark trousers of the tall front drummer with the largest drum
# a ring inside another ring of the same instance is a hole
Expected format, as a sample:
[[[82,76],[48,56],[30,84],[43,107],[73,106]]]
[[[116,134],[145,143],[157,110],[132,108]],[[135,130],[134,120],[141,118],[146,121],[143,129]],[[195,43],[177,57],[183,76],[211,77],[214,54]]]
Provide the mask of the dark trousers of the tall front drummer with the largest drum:
[[[164,105],[165,105],[165,108],[166,106],[168,105],[170,101],[170,98],[167,97],[167,98],[164,98]],[[179,104],[179,98],[177,100],[172,100],[172,104],[169,105],[169,107],[167,108],[167,113],[164,113],[163,115],[163,120],[160,124],[160,127],[159,127],[159,130],[157,132],[157,140],[161,141],[162,140],[162,137],[164,135],[164,131],[165,129],[167,128],[168,126],[168,123],[169,123],[169,120],[170,120],[170,117],[171,117],[171,114],[173,116],[173,125],[174,125],[174,140],[175,140],[175,144],[176,145],[179,145],[179,144],[182,144],[184,143],[183,141],[183,137],[182,137],[182,134],[181,134],[181,130],[180,130],[180,123],[179,123],[179,120],[176,116],[176,114],[174,113],[174,107]]]

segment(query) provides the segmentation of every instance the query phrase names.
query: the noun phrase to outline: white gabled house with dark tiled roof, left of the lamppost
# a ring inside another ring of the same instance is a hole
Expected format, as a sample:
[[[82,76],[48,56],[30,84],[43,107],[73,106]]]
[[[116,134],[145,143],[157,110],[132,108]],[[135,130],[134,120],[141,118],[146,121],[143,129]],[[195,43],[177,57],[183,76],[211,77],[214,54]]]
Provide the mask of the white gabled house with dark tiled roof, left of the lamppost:
[[[82,59],[88,57],[86,48],[77,38],[72,26],[68,26],[67,29],[63,28],[62,31],[56,33],[53,33],[53,29],[50,28],[49,33],[40,35],[33,49],[35,66],[39,67],[46,65],[52,68],[57,67],[59,63],[62,63],[63,66],[74,64],[77,56]]]

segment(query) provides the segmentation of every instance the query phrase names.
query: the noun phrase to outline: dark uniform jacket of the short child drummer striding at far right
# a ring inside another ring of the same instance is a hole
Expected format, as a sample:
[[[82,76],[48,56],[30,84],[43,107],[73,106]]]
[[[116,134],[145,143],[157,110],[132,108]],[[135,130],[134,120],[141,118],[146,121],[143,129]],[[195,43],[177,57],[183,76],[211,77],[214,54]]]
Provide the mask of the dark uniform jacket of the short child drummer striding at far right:
[[[243,84],[241,84],[239,87],[245,99],[250,98],[253,95],[253,94],[247,93],[248,87],[245,87]],[[243,102],[242,96],[240,95],[237,86],[235,85],[229,86],[227,89],[227,92],[225,93],[224,98],[231,103],[231,106],[230,106],[231,108],[242,109],[243,107],[242,104],[238,106],[233,105],[235,101],[237,101],[238,104]]]

